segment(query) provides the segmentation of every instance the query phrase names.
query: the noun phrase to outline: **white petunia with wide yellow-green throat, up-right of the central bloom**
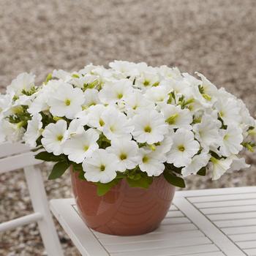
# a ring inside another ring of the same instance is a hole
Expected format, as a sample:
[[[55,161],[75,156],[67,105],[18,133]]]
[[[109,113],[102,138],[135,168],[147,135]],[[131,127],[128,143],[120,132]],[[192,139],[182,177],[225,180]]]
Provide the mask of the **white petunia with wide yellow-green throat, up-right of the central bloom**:
[[[162,113],[165,116],[165,121],[170,125],[170,128],[184,128],[192,129],[191,123],[193,121],[190,111],[185,108],[181,109],[181,106],[174,106],[166,104],[162,106]]]

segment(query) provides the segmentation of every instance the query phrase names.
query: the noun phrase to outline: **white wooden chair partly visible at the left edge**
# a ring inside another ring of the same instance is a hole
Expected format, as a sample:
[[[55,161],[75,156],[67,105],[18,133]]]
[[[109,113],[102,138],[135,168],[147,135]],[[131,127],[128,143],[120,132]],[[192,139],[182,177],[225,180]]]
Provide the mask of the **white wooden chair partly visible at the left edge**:
[[[0,174],[19,168],[24,169],[32,206],[35,211],[33,214],[1,223],[0,231],[37,222],[48,256],[62,256],[63,252],[59,237],[48,208],[42,174],[39,169],[34,168],[34,165],[42,161],[34,159],[34,154],[36,153],[29,150],[30,148],[19,143],[0,144]]]

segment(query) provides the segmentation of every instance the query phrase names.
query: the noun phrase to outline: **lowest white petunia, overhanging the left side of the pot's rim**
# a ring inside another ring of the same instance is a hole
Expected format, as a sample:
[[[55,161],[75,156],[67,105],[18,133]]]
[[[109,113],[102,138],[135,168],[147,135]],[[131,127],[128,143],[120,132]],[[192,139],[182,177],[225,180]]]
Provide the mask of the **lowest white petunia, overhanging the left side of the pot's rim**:
[[[94,151],[89,159],[83,161],[84,176],[87,181],[108,183],[116,178],[118,158],[104,149]]]

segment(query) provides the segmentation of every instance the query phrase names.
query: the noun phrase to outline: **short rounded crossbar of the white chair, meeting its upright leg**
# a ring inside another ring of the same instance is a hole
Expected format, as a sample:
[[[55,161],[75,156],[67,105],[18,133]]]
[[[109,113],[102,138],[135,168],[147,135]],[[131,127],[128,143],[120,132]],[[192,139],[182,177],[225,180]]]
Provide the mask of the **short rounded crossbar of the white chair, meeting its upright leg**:
[[[3,222],[0,224],[0,232],[11,230],[15,227],[27,225],[29,223],[37,222],[39,219],[42,219],[42,214],[36,212],[34,214],[29,214],[17,219],[12,219],[8,222]]]

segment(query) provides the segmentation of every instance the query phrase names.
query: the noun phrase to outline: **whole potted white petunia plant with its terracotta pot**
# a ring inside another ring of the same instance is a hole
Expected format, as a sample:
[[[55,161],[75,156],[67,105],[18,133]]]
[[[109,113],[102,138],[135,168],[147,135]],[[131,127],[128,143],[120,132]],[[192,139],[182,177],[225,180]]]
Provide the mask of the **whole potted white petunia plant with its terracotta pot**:
[[[39,86],[23,73],[0,95],[0,140],[21,141],[71,171],[81,216],[102,233],[158,227],[184,177],[214,180],[246,165],[255,119],[200,73],[113,61],[54,70]]]

